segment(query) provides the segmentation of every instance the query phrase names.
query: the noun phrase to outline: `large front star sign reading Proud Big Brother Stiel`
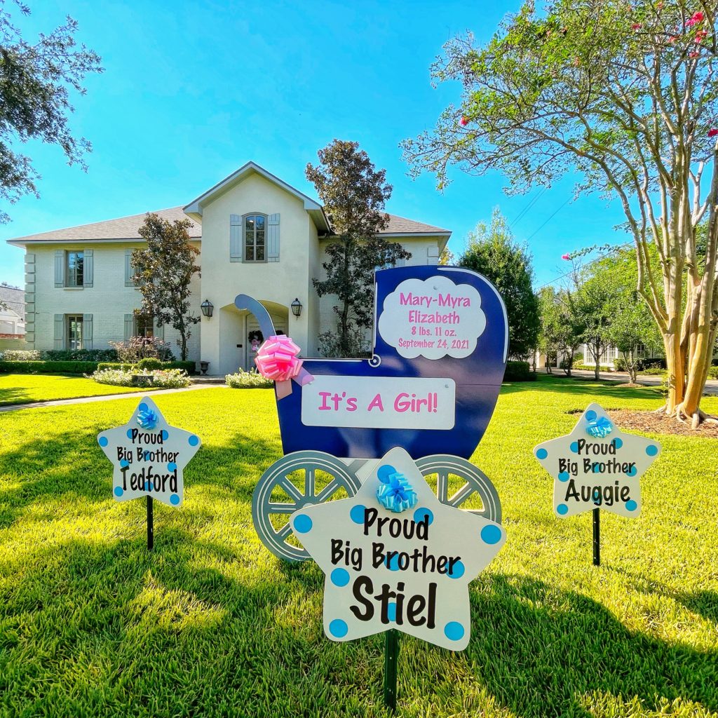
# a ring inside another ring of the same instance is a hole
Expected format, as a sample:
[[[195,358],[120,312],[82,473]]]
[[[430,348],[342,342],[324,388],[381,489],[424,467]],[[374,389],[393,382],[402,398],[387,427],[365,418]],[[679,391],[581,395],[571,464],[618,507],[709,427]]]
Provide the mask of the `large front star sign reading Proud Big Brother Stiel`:
[[[469,582],[498,554],[504,529],[441,503],[404,449],[365,465],[360,478],[352,498],[292,516],[295,535],[326,574],[325,633],[345,641],[396,628],[466,648]]]

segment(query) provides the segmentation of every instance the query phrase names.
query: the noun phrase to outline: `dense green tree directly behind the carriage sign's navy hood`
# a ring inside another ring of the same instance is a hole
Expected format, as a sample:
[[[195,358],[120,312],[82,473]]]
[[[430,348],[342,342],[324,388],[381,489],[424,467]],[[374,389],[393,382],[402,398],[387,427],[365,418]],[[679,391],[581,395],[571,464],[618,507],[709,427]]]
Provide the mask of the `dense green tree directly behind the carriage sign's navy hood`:
[[[531,255],[525,246],[514,241],[498,208],[493,210],[488,227],[480,222],[469,233],[459,266],[483,274],[493,282],[508,314],[508,355],[526,358],[536,348],[539,330],[538,299],[531,287]]]

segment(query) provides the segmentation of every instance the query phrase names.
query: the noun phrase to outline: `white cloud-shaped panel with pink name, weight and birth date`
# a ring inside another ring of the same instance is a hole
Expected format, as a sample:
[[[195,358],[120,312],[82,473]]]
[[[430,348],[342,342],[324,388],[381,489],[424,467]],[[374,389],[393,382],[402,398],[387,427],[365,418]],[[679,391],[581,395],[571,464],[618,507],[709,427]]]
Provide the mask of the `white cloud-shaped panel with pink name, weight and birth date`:
[[[402,281],[384,299],[378,322],[383,340],[407,359],[465,358],[485,328],[477,290],[446,276]]]

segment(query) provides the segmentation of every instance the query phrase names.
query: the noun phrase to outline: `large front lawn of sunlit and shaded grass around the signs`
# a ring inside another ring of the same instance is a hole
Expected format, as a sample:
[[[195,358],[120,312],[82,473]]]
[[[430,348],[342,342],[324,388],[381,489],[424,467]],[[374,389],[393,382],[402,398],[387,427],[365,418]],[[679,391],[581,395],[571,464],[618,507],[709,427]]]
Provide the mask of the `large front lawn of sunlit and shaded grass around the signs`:
[[[643,513],[560,521],[538,442],[597,399],[649,409],[650,388],[541,377],[503,388],[473,460],[508,543],[471,585],[472,638],[401,639],[398,716],[718,715],[718,439],[657,437]],[[0,415],[0,711],[12,717],[387,716],[383,638],[322,634],[323,577],[253,530],[251,493],[281,456],[271,391],[157,397],[203,446],[185,505],[115,503],[95,437],[136,398]],[[718,398],[705,400],[716,412]]]

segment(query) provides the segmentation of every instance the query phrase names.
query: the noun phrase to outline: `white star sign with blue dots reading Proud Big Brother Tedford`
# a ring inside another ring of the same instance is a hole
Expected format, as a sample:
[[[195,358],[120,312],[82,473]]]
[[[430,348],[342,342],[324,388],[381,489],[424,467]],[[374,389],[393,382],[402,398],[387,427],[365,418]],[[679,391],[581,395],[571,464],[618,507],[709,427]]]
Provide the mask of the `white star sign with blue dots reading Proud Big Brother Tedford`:
[[[144,397],[130,420],[97,437],[113,463],[112,493],[118,501],[151,496],[169,506],[184,498],[184,470],[200,448],[200,437],[169,426],[157,405]]]

